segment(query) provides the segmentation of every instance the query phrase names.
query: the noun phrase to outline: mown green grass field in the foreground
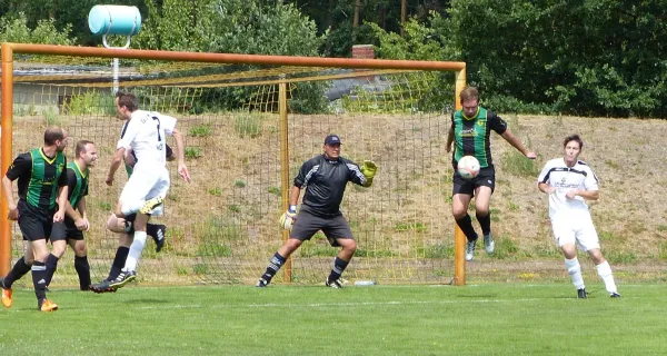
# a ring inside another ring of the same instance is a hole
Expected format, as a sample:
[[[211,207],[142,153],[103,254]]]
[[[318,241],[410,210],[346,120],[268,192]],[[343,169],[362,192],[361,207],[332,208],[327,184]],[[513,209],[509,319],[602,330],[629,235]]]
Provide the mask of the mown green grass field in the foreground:
[[[0,310],[2,355],[664,355],[666,284],[30,289]]]

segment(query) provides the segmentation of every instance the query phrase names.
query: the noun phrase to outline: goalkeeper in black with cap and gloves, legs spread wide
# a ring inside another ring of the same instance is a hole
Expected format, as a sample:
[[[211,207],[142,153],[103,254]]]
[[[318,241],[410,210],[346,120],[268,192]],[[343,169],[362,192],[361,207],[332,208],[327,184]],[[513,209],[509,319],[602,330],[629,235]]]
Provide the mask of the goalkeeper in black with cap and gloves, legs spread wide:
[[[365,161],[359,167],[340,157],[340,137],[337,135],[327,136],[323,155],[301,166],[291,188],[289,209],[280,217],[280,226],[291,230],[289,239],[273,255],[267,270],[257,281],[257,287],[268,286],[287,258],[319,230],[325,233],[331,246],[340,247],[326,285],[331,288],[342,287],[340,275],[352,259],[357,243],[352,238],[348,221],[340,212],[340,202],[348,181],[370,187],[377,167],[371,161]],[[297,215],[301,189],[306,189],[306,194]]]

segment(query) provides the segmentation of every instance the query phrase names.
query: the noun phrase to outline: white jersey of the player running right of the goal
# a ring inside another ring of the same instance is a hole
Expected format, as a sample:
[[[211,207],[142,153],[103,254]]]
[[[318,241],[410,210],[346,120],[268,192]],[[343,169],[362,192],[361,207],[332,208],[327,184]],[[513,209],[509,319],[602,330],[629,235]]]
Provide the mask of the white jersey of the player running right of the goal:
[[[584,161],[578,160],[574,167],[567,167],[563,158],[551,159],[542,168],[537,182],[556,188],[549,195],[549,218],[551,221],[590,219],[590,212],[584,198],[576,196],[568,199],[565,195],[573,189],[598,190],[598,179]]]

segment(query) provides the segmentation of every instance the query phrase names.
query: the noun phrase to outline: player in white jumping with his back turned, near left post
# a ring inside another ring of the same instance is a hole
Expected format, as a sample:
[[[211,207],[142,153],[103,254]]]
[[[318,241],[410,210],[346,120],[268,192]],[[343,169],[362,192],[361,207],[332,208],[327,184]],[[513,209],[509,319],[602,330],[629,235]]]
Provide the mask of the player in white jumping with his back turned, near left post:
[[[162,204],[169,190],[170,181],[166,157],[167,135],[173,136],[176,139],[178,175],[190,182],[190,174],[185,164],[183,138],[176,129],[176,118],[159,112],[139,110],[137,96],[122,91],[116,93],[116,109],[119,119],[123,120],[125,125],[109,168],[107,185],[113,184],[113,176],[123,161],[126,148],[131,147],[137,156],[137,164],[120,194],[115,214],[119,218],[137,214],[137,218],[135,220],[135,239],[120,275],[109,281],[111,289],[121,288],[137,278],[137,264],[146,245],[148,215]]]

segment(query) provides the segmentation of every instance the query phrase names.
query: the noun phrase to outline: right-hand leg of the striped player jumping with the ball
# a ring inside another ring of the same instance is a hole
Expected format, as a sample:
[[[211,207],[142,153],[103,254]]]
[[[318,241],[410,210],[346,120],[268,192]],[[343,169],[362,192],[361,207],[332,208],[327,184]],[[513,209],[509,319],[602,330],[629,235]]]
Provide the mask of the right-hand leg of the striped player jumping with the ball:
[[[481,227],[484,235],[484,248],[487,254],[492,254],[496,243],[491,235],[491,195],[496,188],[496,172],[494,168],[482,168],[475,177],[475,217]]]

